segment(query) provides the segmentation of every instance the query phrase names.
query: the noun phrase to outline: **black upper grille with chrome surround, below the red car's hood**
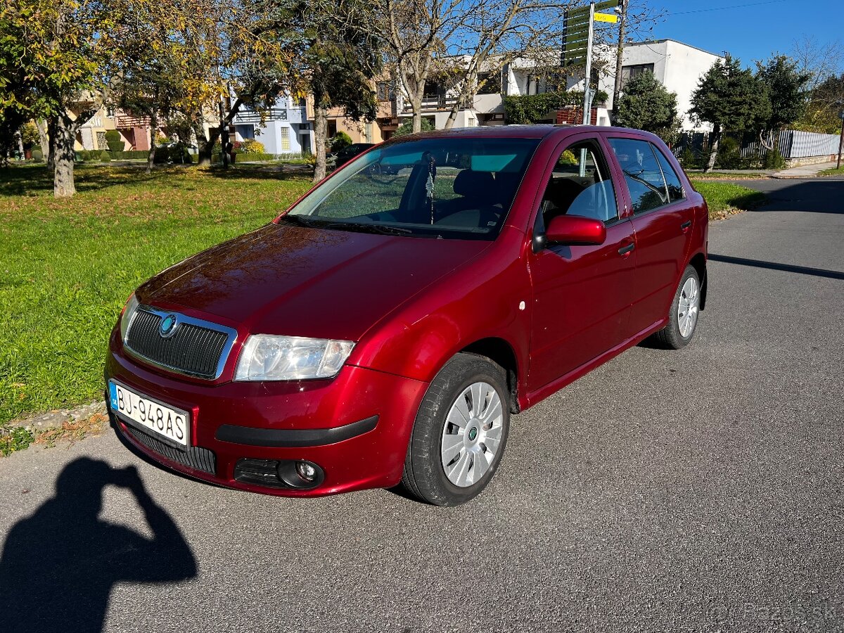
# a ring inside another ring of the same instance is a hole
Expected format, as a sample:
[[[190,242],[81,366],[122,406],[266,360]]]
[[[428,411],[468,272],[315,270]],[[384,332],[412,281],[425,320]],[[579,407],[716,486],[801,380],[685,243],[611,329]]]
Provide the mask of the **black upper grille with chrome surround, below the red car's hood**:
[[[163,318],[160,313],[138,308],[126,335],[129,351],[183,374],[200,378],[218,377],[222,365],[220,360],[225,360],[223,352],[233,335],[187,322],[185,317],[181,317],[176,333],[165,338],[159,333]]]

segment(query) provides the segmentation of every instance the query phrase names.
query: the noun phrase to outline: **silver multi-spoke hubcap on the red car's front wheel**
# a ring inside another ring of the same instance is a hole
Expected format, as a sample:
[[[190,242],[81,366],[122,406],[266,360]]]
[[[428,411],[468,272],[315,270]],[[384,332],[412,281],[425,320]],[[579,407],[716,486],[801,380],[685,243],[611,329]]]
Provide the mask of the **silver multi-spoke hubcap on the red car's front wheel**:
[[[452,404],[442,430],[442,469],[452,484],[468,488],[490,469],[501,441],[504,412],[492,385],[474,382]]]

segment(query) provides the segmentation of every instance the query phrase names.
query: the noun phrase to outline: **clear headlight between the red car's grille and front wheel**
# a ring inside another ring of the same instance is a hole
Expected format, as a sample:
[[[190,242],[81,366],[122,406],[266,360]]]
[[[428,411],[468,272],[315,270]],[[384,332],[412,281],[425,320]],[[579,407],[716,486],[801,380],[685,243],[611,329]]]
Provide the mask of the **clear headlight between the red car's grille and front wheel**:
[[[337,375],[353,348],[350,341],[252,334],[237,361],[235,381],[330,378]]]

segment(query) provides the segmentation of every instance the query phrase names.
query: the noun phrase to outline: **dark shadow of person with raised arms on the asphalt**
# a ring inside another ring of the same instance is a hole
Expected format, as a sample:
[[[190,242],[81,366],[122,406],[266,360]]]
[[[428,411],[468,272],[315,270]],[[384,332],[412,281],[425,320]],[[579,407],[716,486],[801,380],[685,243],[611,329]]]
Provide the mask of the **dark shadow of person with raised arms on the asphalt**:
[[[99,518],[108,485],[133,492],[153,538]],[[0,629],[97,633],[116,582],[179,582],[196,574],[190,547],[138,471],[83,457],[59,475],[56,495],[8,533]]]

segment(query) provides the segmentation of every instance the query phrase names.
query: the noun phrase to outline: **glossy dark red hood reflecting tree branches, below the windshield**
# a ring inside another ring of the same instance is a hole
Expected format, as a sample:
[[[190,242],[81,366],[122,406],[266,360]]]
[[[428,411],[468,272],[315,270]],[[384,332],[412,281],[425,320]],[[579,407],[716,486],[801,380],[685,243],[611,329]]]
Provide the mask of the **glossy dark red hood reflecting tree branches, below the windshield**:
[[[267,225],[159,273],[138,300],[223,317],[250,333],[356,341],[490,244]]]

